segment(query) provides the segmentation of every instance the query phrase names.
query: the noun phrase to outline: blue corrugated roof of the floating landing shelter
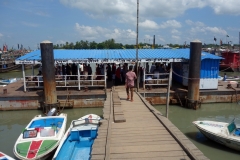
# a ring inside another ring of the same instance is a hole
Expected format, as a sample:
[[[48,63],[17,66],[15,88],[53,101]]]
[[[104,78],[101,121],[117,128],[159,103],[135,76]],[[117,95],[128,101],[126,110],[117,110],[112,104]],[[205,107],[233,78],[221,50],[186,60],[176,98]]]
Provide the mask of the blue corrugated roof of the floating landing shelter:
[[[115,49],[115,50],[59,50],[55,49],[55,61],[92,61],[105,60],[112,62],[116,60],[136,60],[136,49]],[[190,49],[139,49],[138,59],[142,61],[162,61],[169,62],[188,61],[190,57]],[[219,56],[202,52],[201,59],[222,59]],[[41,61],[41,51],[36,50],[30,52],[18,59],[17,64],[29,64],[30,61]]]

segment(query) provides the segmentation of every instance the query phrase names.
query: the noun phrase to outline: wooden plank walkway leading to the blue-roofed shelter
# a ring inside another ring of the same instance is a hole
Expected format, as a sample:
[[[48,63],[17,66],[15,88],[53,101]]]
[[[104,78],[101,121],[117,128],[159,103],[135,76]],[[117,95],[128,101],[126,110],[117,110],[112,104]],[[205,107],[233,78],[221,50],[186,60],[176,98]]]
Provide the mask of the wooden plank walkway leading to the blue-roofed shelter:
[[[139,93],[130,102],[123,87],[108,92],[103,116],[92,160],[208,159]]]

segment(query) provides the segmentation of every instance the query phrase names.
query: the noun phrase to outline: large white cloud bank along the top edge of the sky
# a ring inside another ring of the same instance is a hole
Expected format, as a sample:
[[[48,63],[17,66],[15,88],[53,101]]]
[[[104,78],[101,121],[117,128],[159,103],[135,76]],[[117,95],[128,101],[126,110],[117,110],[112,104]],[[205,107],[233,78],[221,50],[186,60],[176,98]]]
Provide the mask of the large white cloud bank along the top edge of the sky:
[[[136,19],[136,0],[60,0],[66,6],[78,8],[91,18],[112,18],[116,21],[132,23]],[[149,17],[174,18],[187,10],[210,7],[216,14],[240,15],[240,1],[236,0],[147,0],[139,2],[139,14],[142,21]]]

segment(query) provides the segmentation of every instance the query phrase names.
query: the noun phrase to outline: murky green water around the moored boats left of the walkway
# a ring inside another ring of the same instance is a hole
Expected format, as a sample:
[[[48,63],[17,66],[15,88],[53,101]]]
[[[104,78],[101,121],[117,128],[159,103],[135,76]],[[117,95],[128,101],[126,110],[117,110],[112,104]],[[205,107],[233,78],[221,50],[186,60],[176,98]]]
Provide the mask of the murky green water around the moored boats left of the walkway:
[[[14,157],[13,146],[31,119],[38,114],[40,110],[25,111],[1,111],[0,112],[0,151]],[[74,119],[78,119],[86,114],[97,114],[102,117],[102,108],[81,108],[66,109],[63,113],[67,113],[67,128]]]

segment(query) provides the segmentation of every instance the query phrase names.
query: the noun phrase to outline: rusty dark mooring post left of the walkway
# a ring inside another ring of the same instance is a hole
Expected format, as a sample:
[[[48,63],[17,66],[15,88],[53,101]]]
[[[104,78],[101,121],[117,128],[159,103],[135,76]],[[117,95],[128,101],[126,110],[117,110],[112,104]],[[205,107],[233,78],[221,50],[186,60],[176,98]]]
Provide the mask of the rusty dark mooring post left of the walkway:
[[[59,105],[56,93],[53,43],[50,41],[43,41],[41,42],[40,47],[45,99],[43,107],[45,108],[45,112],[48,112],[52,107],[57,108]]]

